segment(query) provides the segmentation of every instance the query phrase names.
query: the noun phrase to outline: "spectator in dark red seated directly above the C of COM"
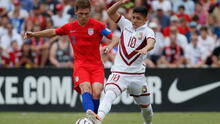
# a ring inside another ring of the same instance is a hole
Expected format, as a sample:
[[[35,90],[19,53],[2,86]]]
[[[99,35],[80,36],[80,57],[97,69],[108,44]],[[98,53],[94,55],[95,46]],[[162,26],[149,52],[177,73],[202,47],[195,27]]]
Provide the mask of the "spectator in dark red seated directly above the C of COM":
[[[26,41],[21,47],[21,57],[16,64],[17,67],[37,67],[34,63],[34,52],[31,50],[30,41]]]

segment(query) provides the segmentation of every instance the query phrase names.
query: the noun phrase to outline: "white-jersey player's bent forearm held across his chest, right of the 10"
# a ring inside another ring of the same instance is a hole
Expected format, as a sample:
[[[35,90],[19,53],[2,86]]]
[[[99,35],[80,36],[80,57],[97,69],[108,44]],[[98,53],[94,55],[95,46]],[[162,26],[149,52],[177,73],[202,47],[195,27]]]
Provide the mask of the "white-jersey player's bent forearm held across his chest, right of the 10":
[[[148,51],[150,51],[154,48],[154,45],[155,45],[155,39],[149,38],[147,40],[147,45],[140,50],[136,50],[136,52],[138,52],[140,54],[147,54]]]

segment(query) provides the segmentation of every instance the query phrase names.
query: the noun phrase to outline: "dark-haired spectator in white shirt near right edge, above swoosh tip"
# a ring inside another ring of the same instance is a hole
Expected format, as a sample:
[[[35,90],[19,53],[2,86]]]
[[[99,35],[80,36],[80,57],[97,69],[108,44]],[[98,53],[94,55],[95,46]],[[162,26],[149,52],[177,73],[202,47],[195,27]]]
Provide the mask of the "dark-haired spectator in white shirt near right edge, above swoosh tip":
[[[198,44],[203,46],[208,55],[211,55],[215,48],[214,39],[208,34],[208,28],[203,26],[200,28],[201,35],[198,37]]]

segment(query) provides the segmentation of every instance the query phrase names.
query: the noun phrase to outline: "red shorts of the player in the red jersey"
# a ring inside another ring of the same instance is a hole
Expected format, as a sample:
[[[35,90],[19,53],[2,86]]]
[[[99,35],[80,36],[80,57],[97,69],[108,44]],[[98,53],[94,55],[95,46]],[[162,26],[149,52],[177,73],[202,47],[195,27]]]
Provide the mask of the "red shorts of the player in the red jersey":
[[[73,82],[74,82],[74,89],[78,93],[81,93],[79,84],[83,82],[90,82],[91,85],[95,82],[104,84],[104,68],[74,66]]]

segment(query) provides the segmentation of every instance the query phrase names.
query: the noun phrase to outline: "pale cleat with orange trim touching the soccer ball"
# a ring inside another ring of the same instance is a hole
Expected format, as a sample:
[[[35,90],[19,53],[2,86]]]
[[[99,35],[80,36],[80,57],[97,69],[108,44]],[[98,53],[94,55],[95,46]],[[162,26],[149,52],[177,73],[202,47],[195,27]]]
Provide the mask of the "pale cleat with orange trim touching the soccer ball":
[[[88,110],[86,112],[86,116],[89,120],[91,120],[94,124],[102,124],[102,119],[93,111]]]

